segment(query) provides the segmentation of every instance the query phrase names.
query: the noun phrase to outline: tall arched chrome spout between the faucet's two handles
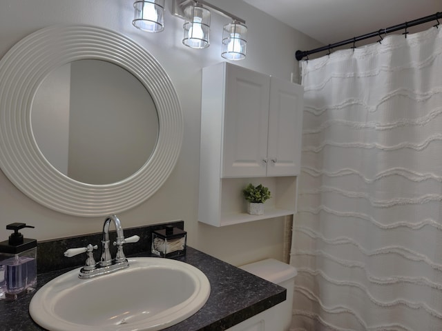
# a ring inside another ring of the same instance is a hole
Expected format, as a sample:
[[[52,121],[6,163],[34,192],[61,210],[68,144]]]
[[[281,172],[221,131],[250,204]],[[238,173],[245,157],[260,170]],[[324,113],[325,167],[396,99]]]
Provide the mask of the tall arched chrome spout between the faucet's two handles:
[[[111,223],[114,223],[115,230],[117,230],[117,239],[115,241],[115,245],[117,245],[117,255],[115,257],[115,262],[119,263],[126,260],[123,252],[124,233],[122,224],[117,215],[112,214],[111,216],[106,217],[103,225],[102,258],[99,263],[102,267],[112,264],[111,251],[109,250],[109,228]]]

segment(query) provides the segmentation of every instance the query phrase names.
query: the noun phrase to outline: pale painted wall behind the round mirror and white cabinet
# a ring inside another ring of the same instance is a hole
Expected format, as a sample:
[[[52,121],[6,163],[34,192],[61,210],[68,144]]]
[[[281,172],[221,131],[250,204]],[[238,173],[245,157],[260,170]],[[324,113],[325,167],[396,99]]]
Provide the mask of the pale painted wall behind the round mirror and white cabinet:
[[[240,66],[289,80],[298,77],[294,52],[318,47],[316,41],[285,26],[240,0],[211,1],[246,20],[247,59]],[[161,63],[177,90],[184,112],[184,143],[171,177],[145,203],[118,216],[124,227],[183,219],[189,245],[239,265],[265,257],[282,257],[283,219],[269,219],[227,228],[197,221],[200,146],[201,68],[224,61],[220,57],[221,28],[229,19],[212,15],[211,46],[193,50],[182,45],[182,23],[170,14],[166,0],[166,28],[160,34],[135,29],[132,0],[1,0],[0,56],[17,41],[40,28],[59,23],[83,23],[116,30],[140,43]],[[26,237],[56,239],[99,232],[104,217],[81,218],[42,207],[22,194],[0,173],[0,240],[8,238],[6,224],[24,222]],[[62,252],[60,252],[62,254]]]

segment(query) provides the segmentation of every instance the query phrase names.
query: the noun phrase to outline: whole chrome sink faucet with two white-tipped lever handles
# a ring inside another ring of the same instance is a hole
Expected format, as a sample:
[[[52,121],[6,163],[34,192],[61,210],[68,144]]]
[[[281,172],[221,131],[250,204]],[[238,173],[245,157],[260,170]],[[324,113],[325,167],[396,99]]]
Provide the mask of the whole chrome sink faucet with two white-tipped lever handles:
[[[115,229],[117,230],[117,239],[113,243],[117,246],[117,254],[115,259],[111,257],[111,251],[109,250],[109,227],[111,223],[115,224]],[[136,243],[140,240],[138,236],[132,236],[127,239],[124,238],[123,228],[121,222],[119,221],[117,215],[113,214],[106,217],[103,225],[103,240],[102,240],[102,257],[98,263],[95,263],[93,257],[93,251],[98,248],[97,245],[87,245],[83,248],[70,248],[64,252],[65,257],[73,257],[77,254],[84,253],[88,255],[86,259],[86,265],[81,268],[79,272],[79,278],[90,279],[93,277],[100,276],[102,274],[109,274],[117,270],[126,269],[129,266],[129,262],[123,252],[124,243]]]

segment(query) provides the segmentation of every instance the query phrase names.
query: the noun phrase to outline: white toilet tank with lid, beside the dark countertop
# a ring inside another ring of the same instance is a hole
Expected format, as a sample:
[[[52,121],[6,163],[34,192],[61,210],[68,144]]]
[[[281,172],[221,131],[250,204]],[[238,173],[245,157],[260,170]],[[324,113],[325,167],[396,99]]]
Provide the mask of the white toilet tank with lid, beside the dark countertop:
[[[266,259],[242,265],[239,268],[287,289],[287,299],[276,305],[278,307],[276,313],[280,321],[277,330],[288,331],[291,324],[295,276],[298,274],[296,268],[276,259]]]

